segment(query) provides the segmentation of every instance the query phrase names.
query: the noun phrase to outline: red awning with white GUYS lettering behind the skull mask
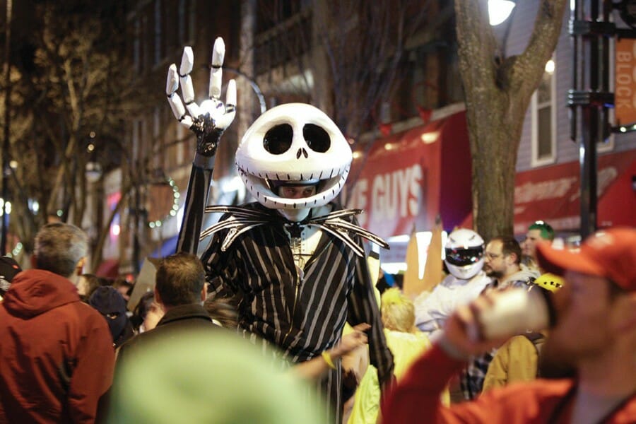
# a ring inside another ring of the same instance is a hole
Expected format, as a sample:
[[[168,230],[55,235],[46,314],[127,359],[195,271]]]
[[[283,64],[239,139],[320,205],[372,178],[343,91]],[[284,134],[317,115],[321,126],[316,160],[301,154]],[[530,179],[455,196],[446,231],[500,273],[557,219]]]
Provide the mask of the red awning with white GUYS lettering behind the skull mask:
[[[347,183],[355,183],[347,206],[363,209],[360,225],[380,237],[430,229],[437,213],[445,227],[459,224],[471,210],[466,113],[378,139]]]

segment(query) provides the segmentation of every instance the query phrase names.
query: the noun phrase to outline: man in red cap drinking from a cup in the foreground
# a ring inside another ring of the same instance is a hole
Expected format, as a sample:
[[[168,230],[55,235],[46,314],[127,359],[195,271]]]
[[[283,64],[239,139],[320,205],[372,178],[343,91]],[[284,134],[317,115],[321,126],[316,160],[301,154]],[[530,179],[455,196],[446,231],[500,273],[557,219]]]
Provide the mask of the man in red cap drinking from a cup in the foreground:
[[[387,396],[382,423],[636,422],[636,229],[596,232],[576,251],[542,242],[537,257],[543,269],[565,277],[543,355],[572,365],[577,377],[494,389],[450,408],[440,404],[464,360],[502,341],[474,341],[467,332],[502,295],[494,293],[447,319],[438,343]]]

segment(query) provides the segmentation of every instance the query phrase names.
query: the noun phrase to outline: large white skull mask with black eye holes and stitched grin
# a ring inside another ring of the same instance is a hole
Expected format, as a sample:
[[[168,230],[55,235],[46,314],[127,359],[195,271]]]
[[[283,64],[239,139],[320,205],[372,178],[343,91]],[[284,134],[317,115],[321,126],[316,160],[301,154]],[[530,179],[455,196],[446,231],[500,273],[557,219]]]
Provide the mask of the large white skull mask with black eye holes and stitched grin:
[[[268,110],[247,129],[236,151],[236,166],[249,192],[272,209],[323,206],[342,189],[352,153],[322,110],[289,103]],[[273,191],[280,184],[316,185],[316,194],[287,199]]]

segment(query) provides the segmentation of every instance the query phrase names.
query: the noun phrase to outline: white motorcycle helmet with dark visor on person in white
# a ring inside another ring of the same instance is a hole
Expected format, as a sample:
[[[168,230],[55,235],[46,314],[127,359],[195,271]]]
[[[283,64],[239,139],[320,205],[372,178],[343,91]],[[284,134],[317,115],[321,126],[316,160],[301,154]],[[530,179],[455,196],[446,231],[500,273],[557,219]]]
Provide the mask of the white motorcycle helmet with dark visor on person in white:
[[[459,228],[448,236],[444,262],[450,273],[460,280],[473,278],[483,267],[483,238],[473,230]]]

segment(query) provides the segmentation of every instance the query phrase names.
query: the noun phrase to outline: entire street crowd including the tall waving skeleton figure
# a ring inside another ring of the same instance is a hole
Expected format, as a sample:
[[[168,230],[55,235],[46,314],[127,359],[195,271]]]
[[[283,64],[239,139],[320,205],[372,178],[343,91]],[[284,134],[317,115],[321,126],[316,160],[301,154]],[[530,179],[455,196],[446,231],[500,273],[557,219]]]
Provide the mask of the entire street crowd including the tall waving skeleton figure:
[[[153,290],[83,274],[65,223],[40,229],[30,269],[0,261],[0,423],[636,423],[635,229],[572,250],[543,221],[521,244],[460,228],[447,275],[407,293],[334,201],[353,153],[316,107],[261,114],[235,154],[254,201],[208,206],[236,112],[224,54],[218,38],[200,105],[190,47],[168,71],[196,153]],[[204,212],[223,216],[201,232]]]

